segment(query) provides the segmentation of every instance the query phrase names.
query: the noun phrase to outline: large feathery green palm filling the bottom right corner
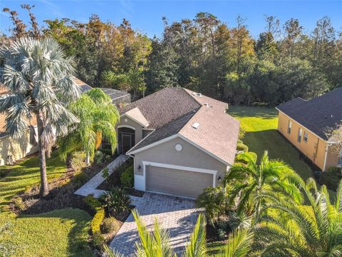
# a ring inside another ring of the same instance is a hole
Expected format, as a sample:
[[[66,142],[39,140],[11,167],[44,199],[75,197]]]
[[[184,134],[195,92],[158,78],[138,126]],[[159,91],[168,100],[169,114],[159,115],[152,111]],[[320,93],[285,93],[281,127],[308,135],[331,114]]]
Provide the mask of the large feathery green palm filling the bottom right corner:
[[[335,203],[313,178],[301,187],[309,206],[266,196],[271,204],[256,228],[256,248],[262,256],[342,256],[342,180]]]

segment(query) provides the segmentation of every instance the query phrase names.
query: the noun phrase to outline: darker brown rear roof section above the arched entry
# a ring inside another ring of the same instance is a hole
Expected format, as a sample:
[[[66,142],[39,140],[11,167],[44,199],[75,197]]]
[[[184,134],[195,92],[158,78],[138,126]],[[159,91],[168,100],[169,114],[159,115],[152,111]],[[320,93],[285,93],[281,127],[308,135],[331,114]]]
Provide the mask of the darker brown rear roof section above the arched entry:
[[[198,110],[201,105],[182,88],[165,88],[119,109],[120,114],[135,107],[149,122],[148,128],[157,129]]]

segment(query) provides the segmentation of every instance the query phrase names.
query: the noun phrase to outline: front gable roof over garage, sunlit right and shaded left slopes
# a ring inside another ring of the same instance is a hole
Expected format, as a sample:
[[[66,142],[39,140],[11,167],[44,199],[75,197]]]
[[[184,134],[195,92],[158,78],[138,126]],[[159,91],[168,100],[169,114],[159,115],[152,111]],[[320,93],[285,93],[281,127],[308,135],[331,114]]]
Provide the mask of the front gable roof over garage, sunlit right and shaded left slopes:
[[[144,140],[134,146],[130,152],[179,134],[225,163],[234,163],[237,138],[239,135],[239,121],[226,114],[225,111],[228,105],[207,96],[197,96],[194,92],[187,89],[181,90],[187,96],[190,96],[191,99],[195,100],[201,107],[199,109],[193,109],[178,119],[157,128]],[[177,94],[173,94],[172,97],[177,97]],[[155,98],[159,99],[158,97]],[[154,106],[153,102],[150,105]],[[164,115],[162,109],[157,109],[156,111],[158,112],[158,116]],[[197,129],[192,127],[194,123],[199,124]]]

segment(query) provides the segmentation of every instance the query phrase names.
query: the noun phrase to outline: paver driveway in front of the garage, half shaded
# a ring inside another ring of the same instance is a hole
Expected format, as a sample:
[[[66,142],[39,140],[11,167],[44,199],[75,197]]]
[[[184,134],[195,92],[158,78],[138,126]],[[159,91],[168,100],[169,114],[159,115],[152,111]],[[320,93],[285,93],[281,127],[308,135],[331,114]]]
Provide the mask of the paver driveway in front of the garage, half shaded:
[[[155,218],[160,226],[170,233],[170,243],[177,255],[184,251],[187,241],[195,228],[199,211],[194,207],[194,201],[163,196],[155,193],[145,193],[136,203],[135,208],[147,228],[152,230]],[[123,223],[110,248],[124,256],[130,256],[135,251],[135,242],[139,241],[137,226],[133,215]]]

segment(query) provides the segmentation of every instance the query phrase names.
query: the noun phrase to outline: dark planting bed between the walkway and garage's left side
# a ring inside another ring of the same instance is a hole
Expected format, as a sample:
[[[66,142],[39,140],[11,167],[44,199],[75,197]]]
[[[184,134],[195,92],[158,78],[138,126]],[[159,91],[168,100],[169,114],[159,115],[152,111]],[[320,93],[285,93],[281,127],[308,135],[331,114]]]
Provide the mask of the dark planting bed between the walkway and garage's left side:
[[[117,168],[112,174],[110,174],[108,181],[103,181],[103,183],[101,183],[97,189],[110,191],[111,188],[122,188],[123,185],[120,181],[120,175],[125,170],[125,168],[127,168],[130,165],[133,165],[132,159],[128,159],[128,161],[126,161],[122,166]],[[139,191],[134,188],[125,188],[125,191],[131,196],[138,197],[142,197],[145,193],[144,191]]]

